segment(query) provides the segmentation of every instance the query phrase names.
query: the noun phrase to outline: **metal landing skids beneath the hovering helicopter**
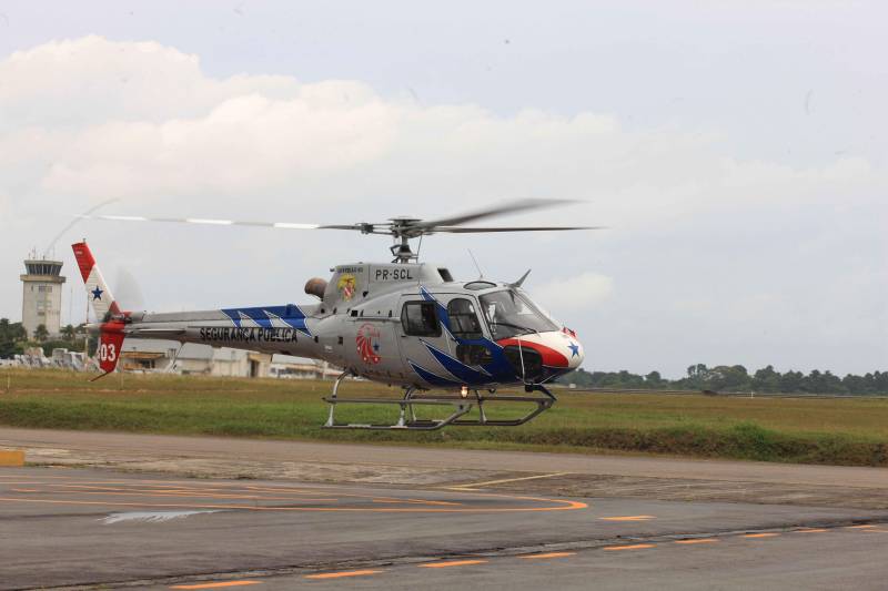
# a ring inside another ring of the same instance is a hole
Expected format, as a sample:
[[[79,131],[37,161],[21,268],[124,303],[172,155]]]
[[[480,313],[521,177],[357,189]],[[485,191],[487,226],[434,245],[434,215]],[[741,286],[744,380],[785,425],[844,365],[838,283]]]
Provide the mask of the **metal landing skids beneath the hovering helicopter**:
[[[501,396],[501,395],[482,395],[478,390],[474,390],[471,396],[458,395],[434,395],[434,394],[417,394],[418,389],[411,386],[405,389],[403,398],[340,398],[339,388],[350,373],[343,373],[336,378],[333,384],[333,393],[323,398],[330,405],[330,415],[327,416],[325,429],[375,429],[375,430],[412,430],[412,431],[434,431],[447,426],[455,427],[517,427],[524,425],[533,419],[544,410],[552,408],[556,398],[548,389],[542,384],[532,384],[525,386],[525,393],[532,395],[535,391],[542,393],[544,396]],[[508,404],[527,404],[536,405],[536,408],[516,419],[488,419],[484,411],[485,403],[508,403]],[[401,407],[401,415],[394,425],[374,425],[374,424],[356,424],[356,422],[336,422],[335,410],[336,405],[398,405]],[[416,417],[417,406],[452,406],[453,411],[443,419],[420,419]],[[466,419],[463,418],[472,408],[477,405],[478,418]]]

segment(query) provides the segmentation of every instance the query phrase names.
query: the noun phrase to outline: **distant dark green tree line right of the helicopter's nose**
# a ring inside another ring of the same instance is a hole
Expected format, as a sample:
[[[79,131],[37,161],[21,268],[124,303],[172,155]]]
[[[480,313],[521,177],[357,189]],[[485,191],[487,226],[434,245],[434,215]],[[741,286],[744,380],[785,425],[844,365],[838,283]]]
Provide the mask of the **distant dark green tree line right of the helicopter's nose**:
[[[888,395],[888,371],[872,371],[862,376],[848,374],[839,377],[829,370],[818,369],[807,375],[793,370],[781,374],[770,365],[750,374],[741,365],[719,365],[710,368],[704,364],[696,364],[689,366],[687,375],[679,379],[665,379],[659,371],[650,371],[643,376],[626,370],[586,371],[579,368],[558,381],[576,384],[581,388]]]

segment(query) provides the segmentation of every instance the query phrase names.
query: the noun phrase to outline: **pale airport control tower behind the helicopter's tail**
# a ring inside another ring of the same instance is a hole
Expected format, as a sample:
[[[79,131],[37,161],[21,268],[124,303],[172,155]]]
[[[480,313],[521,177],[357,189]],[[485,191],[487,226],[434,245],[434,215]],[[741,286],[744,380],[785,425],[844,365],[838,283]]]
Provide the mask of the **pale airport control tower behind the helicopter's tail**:
[[[62,263],[37,258],[33,253],[24,262],[28,273],[21,275],[22,304],[21,324],[28,336],[32,337],[41,324],[50,335],[58,335],[61,329],[62,312]]]

